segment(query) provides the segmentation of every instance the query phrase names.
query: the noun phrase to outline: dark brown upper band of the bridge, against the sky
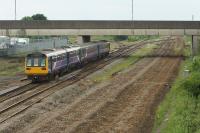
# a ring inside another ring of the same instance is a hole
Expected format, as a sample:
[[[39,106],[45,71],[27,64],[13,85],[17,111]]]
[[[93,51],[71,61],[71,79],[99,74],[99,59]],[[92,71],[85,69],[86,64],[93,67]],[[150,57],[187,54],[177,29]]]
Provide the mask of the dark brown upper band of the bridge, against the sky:
[[[200,21],[0,21],[0,29],[200,29]]]

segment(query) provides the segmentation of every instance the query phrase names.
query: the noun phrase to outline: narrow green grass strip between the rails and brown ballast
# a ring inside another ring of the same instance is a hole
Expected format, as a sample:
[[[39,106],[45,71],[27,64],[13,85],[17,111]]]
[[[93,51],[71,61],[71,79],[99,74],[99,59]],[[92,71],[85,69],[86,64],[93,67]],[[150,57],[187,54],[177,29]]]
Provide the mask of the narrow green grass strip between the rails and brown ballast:
[[[106,69],[100,75],[97,75],[93,78],[95,82],[102,82],[110,79],[113,75],[119,73],[120,71],[131,67],[139,59],[143,58],[145,55],[148,55],[155,49],[157,46],[154,44],[148,44],[144,48],[138,50],[136,53],[133,53],[129,57],[124,58],[121,62],[112,66],[111,68]]]

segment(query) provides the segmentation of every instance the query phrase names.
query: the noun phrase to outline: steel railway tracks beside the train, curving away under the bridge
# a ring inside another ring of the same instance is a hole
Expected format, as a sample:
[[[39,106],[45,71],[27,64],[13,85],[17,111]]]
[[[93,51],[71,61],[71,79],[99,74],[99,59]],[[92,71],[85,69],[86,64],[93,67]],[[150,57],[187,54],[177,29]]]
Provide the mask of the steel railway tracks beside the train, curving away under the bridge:
[[[82,78],[88,76],[89,74],[102,69],[104,66],[110,64],[114,59],[119,57],[129,55],[133,53],[137,49],[142,48],[145,44],[152,43],[152,42],[160,42],[159,41],[148,41],[148,42],[140,42],[131,46],[123,47],[119,51],[113,52],[108,58],[97,62],[96,64],[88,64],[85,68],[82,68],[78,71],[75,71],[71,74],[68,74],[67,78],[63,77],[60,81],[56,83],[48,83],[45,85],[40,85],[35,87],[34,89],[29,89],[28,93],[26,91],[18,93],[18,95],[11,95],[10,93],[8,96],[2,99],[3,104],[0,104],[0,123],[7,121],[8,119],[20,114],[21,112],[25,111],[26,109],[30,108],[34,104],[40,102],[41,100],[45,99],[49,95],[55,93],[59,89],[64,88],[65,86],[71,85]],[[58,89],[59,88],[59,89]],[[22,89],[23,90],[23,89]],[[16,92],[15,92],[16,93]],[[23,93],[23,94],[22,94]],[[20,95],[19,95],[20,94]],[[14,97],[15,96],[15,97]],[[17,97],[16,97],[17,96]],[[11,100],[10,100],[11,98]],[[9,101],[10,100],[10,101]]]

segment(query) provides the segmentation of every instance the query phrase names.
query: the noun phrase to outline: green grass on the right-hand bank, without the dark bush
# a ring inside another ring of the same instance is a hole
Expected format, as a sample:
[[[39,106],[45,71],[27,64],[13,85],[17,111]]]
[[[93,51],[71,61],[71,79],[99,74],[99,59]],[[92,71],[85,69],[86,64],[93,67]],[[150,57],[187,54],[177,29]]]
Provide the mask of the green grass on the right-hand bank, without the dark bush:
[[[153,132],[159,129],[161,133],[200,133],[200,99],[196,107],[194,97],[182,87],[185,66],[191,62],[187,60],[182,64],[177,80],[159,106]]]

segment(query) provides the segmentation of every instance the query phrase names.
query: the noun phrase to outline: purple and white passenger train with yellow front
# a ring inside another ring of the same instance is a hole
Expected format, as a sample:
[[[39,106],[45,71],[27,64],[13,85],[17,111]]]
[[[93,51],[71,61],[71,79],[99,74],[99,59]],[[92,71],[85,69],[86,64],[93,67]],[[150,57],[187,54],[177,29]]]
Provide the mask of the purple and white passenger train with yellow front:
[[[25,74],[32,82],[50,81],[72,69],[104,58],[110,53],[109,42],[87,43],[28,54]]]

